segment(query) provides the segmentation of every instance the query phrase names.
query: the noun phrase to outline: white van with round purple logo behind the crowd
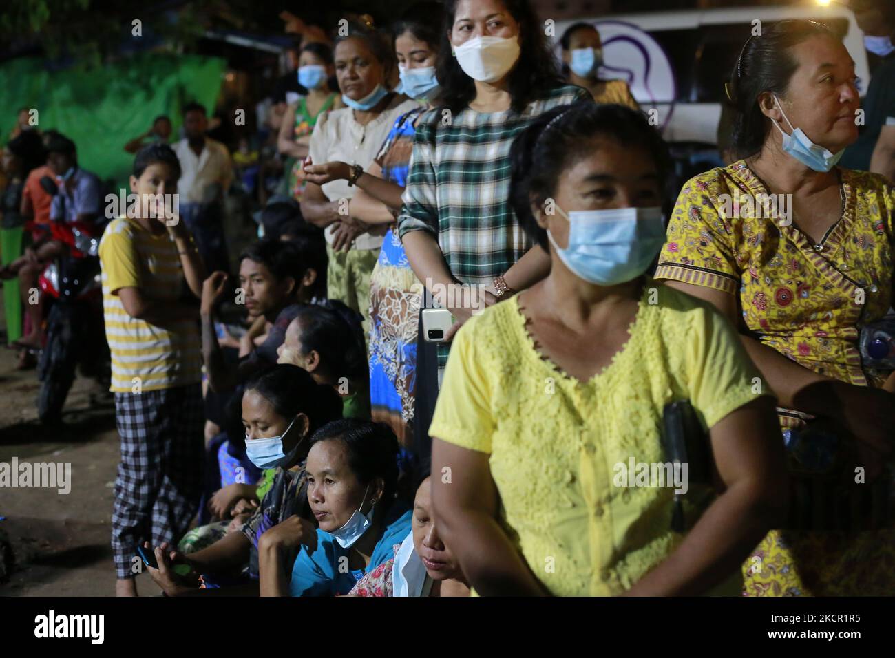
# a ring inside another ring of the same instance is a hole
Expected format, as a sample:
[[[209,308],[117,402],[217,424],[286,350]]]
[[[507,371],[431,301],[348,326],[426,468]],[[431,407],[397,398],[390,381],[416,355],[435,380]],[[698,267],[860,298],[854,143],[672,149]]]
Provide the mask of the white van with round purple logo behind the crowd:
[[[655,107],[666,141],[691,149],[717,146],[724,82],[753,21],[822,21],[843,38],[855,60],[859,90],[870,83],[863,33],[854,13],[839,4],[755,6],[669,12],[612,14],[581,19],[600,31],[601,78],[628,81],[644,110]],[[556,42],[579,21],[558,21]]]

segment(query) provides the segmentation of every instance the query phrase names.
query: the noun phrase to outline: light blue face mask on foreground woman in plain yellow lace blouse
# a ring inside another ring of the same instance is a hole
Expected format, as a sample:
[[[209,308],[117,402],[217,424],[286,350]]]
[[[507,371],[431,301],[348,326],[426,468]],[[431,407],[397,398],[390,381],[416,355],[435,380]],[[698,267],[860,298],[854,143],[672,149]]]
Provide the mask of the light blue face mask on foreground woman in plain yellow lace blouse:
[[[566,214],[568,246],[550,243],[577,278],[597,286],[617,286],[642,275],[665,244],[662,209],[614,208]]]

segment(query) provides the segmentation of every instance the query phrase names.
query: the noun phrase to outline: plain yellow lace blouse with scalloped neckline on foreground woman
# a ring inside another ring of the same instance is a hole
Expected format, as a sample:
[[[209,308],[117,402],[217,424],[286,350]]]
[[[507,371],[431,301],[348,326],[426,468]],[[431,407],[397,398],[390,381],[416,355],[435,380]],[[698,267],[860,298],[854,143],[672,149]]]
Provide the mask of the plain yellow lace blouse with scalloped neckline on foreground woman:
[[[430,435],[490,455],[507,534],[551,593],[621,594],[684,535],[671,531],[675,487],[617,478],[669,461],[666,404],[689,399],[712,427],[755,399],[757,371],[710,304],[650,281],[626,346],[581,382],[541,356],[518,299],[457,333]],[[683,498],[691,519],[712,492],[690,482]]]

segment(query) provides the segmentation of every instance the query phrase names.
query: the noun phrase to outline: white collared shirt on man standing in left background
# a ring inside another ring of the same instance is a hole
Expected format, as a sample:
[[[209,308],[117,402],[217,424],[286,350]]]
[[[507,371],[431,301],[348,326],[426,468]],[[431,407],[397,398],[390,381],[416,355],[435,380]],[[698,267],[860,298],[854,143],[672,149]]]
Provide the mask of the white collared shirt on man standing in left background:
[[[183,203],[219,201],[233,181],[233,163],[226,146],[206,137],[205,148],[197,156],[184,137],[171,148],[180,160],[181,173],[177,181],[180,200]]]

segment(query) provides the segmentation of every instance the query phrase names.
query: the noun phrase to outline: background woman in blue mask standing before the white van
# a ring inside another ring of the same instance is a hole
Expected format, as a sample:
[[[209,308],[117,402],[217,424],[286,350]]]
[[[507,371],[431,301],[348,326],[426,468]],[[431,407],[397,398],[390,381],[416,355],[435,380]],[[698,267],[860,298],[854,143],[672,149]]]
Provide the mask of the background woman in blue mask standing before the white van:
[[[570,84],[584,87],[598,103],[617,103],[640,109],[624,80],[597,77],[603,62],[600,32],[589,23],[575,23],[559,39],[562,61]]]

